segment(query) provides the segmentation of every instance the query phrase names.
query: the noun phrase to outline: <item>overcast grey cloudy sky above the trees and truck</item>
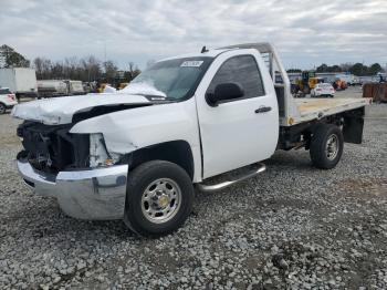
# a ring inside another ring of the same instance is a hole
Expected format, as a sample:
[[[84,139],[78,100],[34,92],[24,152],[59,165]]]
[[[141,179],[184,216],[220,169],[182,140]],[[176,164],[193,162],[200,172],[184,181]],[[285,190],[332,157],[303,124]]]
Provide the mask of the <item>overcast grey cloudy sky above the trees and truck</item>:
[[[125,3],[124,3],[125,2]],[[286,68],[387,63],[387,0],[0,0],[0,44],[29,59],[133,61],[273,42]]]

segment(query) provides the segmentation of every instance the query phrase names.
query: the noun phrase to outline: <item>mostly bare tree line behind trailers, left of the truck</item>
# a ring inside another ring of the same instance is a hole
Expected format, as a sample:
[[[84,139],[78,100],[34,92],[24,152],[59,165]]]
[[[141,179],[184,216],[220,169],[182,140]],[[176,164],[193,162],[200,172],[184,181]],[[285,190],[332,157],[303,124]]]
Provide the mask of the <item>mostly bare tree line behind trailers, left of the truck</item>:
[[[130,82],[140,73],[134,62],[129,62],[124,71],[119,71],[113,61],[103,62],[93,55],[82,59],[65,58],[63,61],[39,56],[30,62],[8,45],[0,46],[0,68],[33,68],[38,80],[80,80],[111,84]]]

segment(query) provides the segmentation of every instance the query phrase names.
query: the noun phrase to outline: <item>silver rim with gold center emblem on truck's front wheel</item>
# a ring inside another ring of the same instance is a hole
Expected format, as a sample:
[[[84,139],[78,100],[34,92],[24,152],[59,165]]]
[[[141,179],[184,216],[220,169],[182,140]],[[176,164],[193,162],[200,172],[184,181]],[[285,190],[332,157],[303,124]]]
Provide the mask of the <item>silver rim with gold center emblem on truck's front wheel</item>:
[[[151,182],[142,196],[143,215],[155,224],[163,224],[175,217],[179,211],[180,204],[180,187],[169,178]]]

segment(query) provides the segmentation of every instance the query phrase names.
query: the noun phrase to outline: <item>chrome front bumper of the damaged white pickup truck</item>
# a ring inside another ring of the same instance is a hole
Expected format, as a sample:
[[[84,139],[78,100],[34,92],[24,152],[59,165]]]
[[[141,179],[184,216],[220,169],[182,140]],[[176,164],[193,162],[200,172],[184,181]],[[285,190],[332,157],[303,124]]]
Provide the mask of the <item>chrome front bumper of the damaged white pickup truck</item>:
[[[19,173],[34,193],[57,198],[61,209],[80,219],[121,219],[124,217],[127,165],[60,172],[50,175],[18,160]]]

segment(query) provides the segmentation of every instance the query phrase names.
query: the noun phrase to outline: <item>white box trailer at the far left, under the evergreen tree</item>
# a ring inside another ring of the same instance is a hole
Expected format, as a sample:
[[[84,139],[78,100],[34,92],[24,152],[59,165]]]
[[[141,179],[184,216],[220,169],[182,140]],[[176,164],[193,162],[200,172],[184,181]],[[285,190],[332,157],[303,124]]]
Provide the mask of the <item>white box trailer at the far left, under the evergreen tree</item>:
[[[29,68],[0,69],[0,86],[9,87],[17,99],[36,97],[35,70]]]

